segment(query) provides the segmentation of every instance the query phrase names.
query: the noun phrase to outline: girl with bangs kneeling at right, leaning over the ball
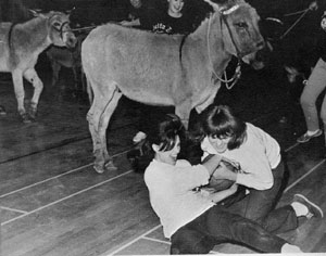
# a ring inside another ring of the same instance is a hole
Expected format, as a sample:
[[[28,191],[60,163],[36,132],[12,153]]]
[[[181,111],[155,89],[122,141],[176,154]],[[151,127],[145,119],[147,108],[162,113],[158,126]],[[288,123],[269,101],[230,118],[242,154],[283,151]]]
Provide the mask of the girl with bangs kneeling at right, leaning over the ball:
[[[248,194],[241,201],[229,206],[241,216],[252,219],[275,233],[284,232],[287,225],[272,227],[275,215],[283,216],[289,227],[296,226],[297,215],[293,208],[275,206],[281,195],[284,182],[284,163],[277,141],[268,133],[250,123],[239,119],[226,105],[210,105],[201,115],[201,148],[203,158],[218,154],[238,166],[240,171],[218,168],[214,177],[231,180],[244,185]],[[296,197],[304,199],[303,195]],[[296,207],[296,204],[294,204]],[[316,214],[322,209],[317,209]],[[309,212],[304,212],[309,214]]]

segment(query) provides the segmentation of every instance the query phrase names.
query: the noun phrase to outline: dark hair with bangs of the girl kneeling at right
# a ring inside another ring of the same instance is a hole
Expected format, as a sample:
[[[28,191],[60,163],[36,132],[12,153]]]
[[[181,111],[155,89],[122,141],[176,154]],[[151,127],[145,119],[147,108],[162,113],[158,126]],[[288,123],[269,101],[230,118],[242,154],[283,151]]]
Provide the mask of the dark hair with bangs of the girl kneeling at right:
[[[239,148],[247,139],[246,123],[240,120],[227,105],[212,104],[201,114],[201,139],[205,136],[213,138],[231,138],[227,144],[228,150]]]

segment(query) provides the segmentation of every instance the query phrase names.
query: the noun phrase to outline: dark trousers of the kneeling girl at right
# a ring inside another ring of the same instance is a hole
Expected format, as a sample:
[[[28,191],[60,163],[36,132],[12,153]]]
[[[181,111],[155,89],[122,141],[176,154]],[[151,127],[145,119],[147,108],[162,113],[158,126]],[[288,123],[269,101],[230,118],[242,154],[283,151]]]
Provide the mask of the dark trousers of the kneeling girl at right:
[[[274,185],[268,190],[249,189],[250,193],[227,209],[254,220],[273,233],[284,233],[298,227],[298,218],[289,205],[275,209],[283,193],[284,163],[273,169]]]

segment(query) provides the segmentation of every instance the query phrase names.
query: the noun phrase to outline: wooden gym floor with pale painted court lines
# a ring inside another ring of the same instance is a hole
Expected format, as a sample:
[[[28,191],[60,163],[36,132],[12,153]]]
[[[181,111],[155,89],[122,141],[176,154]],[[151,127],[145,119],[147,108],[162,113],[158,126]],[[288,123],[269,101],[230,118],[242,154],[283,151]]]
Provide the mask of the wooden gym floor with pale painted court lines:
[[[142,175],[133,171],[126,158],[137,112],[130,102],[121,102],[108,133],[118,169],[98,175],[92,169],[86,98],[74,97],[70,71],[55,88],[49,88],[49,73],[41,75],[46,89],[37,121],[27,125],[20,121],[12,84],[1,74],[0,104],[8,112],[0,117],[2,256],[168,254],[170,242],[150,207]],[[302,193],[326,212],[323,137],[296,143],[305,129],[300,106],[288,108],[283,92],[268,87],[265,78],[247,71],[235,89],[221,91],[220,100],[268,131],[287,152],[290,177],[279,205]],[[30,86],[26,89],[29,97]],[[290,115],[279,123],[284,105]],[[281,236],[306,253],[326,253],[325,218],[301,221]],[[215,246],[212,253],[255,254],[231,244]]]

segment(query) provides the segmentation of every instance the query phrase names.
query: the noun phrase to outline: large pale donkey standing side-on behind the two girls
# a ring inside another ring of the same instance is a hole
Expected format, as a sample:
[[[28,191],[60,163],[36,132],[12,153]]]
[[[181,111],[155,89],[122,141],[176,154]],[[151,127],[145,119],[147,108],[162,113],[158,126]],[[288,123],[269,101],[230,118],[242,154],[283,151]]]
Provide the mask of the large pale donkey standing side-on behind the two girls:
[[[146,104],[174,105],[187,128],[191,108],[200,113],[213,102],[231,56],[250,62],[264,47],[251,5],[205,1],[213,12],[186,37],[106,24],[83,42],[83,67],[93,92],[87,118],[96,171],[115,168],[105,132],[123,94]]]

